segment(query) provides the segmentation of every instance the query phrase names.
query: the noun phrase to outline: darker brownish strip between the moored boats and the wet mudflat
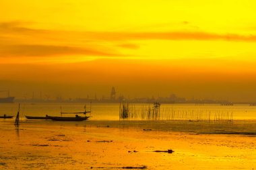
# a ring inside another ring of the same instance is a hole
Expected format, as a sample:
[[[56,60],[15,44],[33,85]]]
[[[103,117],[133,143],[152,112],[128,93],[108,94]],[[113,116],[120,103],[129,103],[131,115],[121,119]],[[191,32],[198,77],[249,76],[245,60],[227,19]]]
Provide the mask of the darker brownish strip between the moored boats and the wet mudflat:
[[[12,119],[0,119],[1,124],[14,124]],[[86,120],[77,122],[62,122],[53,120],[28,120],[22,118],[20,124],[33,126],[87,126],[109,128],[137,128],[159,132],[190,132],[195,134],[241,134],[256,135],[256,120],[234,120],[233,123],[189,122],[166,120]]]

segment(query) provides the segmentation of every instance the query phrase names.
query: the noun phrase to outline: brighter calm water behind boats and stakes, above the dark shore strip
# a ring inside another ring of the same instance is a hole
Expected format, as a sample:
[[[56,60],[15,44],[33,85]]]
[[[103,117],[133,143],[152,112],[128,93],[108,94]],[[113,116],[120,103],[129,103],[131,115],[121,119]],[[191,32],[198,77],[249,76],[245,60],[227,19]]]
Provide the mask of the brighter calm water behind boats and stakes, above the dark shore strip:
[[[60,112],[83,112],[85,103],[21,103],[20,115],[24,116],[61,116]],[[142,104],[134,104],[141,108]],[[256,106],[250,105],[219,105],[219,104],[162,104],[161,109],[172,112],[211,112],[232,114],[233,120],[256,120]],[[87,104],[86,110],[92,110],[90,120],[119,120],[119,103],[92,103]],[[0,115],[15,116],[18,103],[0,103]]]

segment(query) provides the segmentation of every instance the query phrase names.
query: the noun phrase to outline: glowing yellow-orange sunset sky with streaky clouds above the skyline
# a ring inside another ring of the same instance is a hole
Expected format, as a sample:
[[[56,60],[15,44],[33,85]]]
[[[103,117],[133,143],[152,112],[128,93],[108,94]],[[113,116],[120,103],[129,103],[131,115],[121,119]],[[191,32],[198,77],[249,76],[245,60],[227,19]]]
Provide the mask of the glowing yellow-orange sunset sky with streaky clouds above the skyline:
[[[256,101],[256,2],[0,0],[0,89],[16,97]],[[2,95],[2,94],[1,94]]]

